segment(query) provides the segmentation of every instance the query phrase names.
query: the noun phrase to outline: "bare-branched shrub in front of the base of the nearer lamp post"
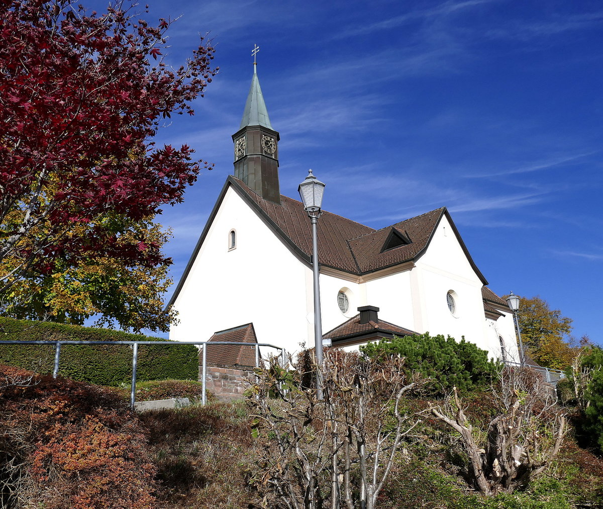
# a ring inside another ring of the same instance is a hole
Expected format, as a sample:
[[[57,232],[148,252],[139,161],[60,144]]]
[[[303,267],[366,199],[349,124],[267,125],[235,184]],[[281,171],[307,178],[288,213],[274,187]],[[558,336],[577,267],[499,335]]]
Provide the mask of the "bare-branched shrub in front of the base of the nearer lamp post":
[[[305,373],[276,359],[258,368],[248,392],[264,455],[255,481],[288,509],[374,509],[396,453],[417,425],[403,396],[423,381],[405,380],[403,359],[378,364],[356,353],[325,351],[323,399],[301,388]]]

